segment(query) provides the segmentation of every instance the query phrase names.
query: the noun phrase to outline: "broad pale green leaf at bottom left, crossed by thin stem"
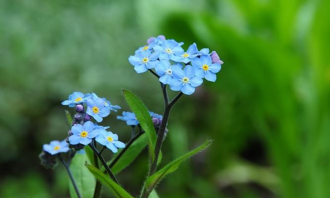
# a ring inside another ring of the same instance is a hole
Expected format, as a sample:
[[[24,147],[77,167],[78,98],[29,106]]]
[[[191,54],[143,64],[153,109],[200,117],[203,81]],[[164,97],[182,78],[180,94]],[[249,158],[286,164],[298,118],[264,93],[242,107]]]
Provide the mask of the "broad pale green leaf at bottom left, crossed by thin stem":
[[[84,166],[86,162],[89,162],[86,154],[76,153],[71,161],[70,170],[82,198],[93,198],[95,180],[93,174]],[[77,198],[71,180],[69,181],[69,190],[71,198]]]

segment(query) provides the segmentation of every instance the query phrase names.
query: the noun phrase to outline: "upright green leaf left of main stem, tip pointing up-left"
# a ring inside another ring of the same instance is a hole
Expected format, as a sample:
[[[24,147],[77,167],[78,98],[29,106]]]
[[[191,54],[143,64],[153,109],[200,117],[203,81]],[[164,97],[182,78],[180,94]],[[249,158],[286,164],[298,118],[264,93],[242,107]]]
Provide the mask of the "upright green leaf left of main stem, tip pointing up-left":
[[[137,96],[135,96],[131,91],[123,90],[123,94],[128,105],[131,107],[132,111],[137,116],[142,129],[145,131],[145,133],[148,136],[149,155],[151,161],[153,161],[155,157],[154,149],[156,145],[157,136],[148,109],[143,104],[143,102]]]

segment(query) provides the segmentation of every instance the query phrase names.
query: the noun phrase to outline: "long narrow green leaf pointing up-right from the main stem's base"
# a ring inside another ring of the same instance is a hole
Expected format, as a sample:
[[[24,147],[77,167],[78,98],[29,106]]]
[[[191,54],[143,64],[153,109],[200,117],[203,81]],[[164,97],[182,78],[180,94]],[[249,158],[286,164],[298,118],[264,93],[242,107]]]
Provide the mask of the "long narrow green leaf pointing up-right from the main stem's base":
[[[213,140],[207,140],[206,142],[204,142],[201,146],[189,151],[188,153],[186,153],[185,155],[179,157],[178,159],[172,161],[171,163],[169,163],[168,165],[166,165],[165,167],[163,167],[162,169],[160,169],[159,171],[157,171],[155,174],[151,175],[147,180],[146,180],[146,184],[145,184],[145,190],[150,192],[152,191],[155,186],[169,173],[174,172],[175,170],[177,170],[180,166],[180,164],[185,161],[186,159],[190,158],[192,155],[202,151],[205,148],[208,148],[211,143],[213,142]]]

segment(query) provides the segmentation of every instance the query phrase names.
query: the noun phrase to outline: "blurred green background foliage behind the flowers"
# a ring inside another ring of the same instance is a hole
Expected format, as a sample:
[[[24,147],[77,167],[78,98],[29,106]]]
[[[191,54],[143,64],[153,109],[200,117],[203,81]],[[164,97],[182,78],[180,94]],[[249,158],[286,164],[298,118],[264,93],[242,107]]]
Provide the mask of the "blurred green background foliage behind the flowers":
[[[216,50],[225,64],[216,83],[171,112],[163,165],[215,142],[168,176],[160,197],[328,198],[329,8],[329,0],[1,0],[0,197],[69,196],[63,166],[45,170],[38,154],[65,138],[60,102],[73,91],[129,110],[125,88],[162,113],[157,79],[136,74],[128,56],[165,35]],[[119,114],[103,125],[126,142]],[[118,175],[133,195],[146,163],[144,151]]]

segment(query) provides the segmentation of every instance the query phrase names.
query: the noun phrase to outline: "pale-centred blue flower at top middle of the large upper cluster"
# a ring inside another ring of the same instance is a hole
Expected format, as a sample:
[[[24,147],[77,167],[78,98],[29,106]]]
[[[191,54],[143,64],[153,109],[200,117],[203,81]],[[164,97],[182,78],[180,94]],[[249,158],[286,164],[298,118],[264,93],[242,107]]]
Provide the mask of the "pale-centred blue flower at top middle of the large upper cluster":
[[[160,46],[155,45],[153,50],[158,51],[159,59],[172,60],[175,56],[182,54],[184,49],[182,49],[180,44],[174,40],[166,40]]]

